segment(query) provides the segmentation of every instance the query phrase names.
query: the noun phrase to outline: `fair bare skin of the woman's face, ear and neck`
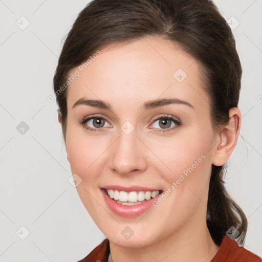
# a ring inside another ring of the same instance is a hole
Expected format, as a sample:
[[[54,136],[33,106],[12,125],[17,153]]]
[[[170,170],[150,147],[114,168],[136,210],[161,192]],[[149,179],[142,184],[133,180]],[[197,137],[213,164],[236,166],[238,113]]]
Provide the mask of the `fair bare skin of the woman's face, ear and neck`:
[[[201,65],[171,41],[144,37],[100,50],[98,58],[70,84],[67,94],[65,144],[72,173],[82,179],[77,186],[81,201],[110,240],[114,262],[210,261],[219,249],[206,225],[211,164],[223,165],[231,156],[241,113],[231,108],[229,124],[213,130]],[[178,69],[187,74],[182,82],[173,77]],[[112,108],[83,104],[72,108],[80,98],[102,100]],[[193,107],[177,103],[143,109],[144,102],[160,98],[178,98]],[[97,132],[80,124],[93,115],[106,118],[100,129],[89,121]],[[182,124],[171,121],[168,128],[177,127],[163,132],[157,119],[165,115]],[[60,116],[58,119],[61,123]],[[121,130],[126,121],[135,127],[129,135]],[[100,188],[106,185],[165,191],[202,155],[205,160],[146,214],[121,217],[104,202]],[[121,234],[126,226],[134,231],[129,239]]]

